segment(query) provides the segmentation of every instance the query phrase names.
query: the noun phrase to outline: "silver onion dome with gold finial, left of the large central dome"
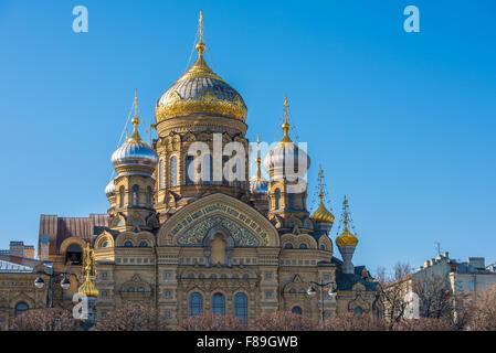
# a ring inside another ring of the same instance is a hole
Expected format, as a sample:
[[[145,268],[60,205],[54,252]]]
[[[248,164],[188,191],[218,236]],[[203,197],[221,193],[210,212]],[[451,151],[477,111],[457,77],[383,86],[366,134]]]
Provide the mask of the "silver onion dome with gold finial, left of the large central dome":
[[[138,124],[139,119],[135,116],[133,118],[133,125],[135,126],[133,135],[112,154],[110,161],[116,170],[118,168],[128,170],[138,167],[152,173],[158,163],[158,156],[154,149],[141,140],[138,133]]]

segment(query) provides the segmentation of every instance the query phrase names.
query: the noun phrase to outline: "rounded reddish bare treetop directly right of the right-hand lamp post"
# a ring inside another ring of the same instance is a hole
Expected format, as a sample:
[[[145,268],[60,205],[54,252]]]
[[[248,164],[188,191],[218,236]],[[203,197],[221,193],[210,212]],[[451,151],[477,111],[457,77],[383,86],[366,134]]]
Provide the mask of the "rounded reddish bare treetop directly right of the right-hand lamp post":
[[[384,321],[368,314],[348,312],[328,319],[324,324],[319,324],[321,331],[384,331],[387,324]]]

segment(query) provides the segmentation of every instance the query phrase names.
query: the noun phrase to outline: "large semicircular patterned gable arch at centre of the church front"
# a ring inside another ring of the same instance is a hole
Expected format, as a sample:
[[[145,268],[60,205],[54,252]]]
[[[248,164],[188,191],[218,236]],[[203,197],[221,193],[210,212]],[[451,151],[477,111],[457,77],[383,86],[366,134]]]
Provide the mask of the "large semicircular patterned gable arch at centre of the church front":
[[[159,229],[158,245],[202,246],[215,225],[230,229],[235,246],[279,246],[277,229],[268,220],[240,200],[221,193],[204,196],[175,213]]]

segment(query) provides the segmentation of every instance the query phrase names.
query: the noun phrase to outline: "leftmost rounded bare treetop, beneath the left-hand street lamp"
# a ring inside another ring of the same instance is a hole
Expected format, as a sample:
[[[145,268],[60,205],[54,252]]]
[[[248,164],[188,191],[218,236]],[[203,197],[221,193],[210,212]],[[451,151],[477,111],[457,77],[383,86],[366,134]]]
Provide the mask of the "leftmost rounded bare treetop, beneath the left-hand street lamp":
[[[80,331],[80,321],[63,309],[32,309],[14,319],[14,331]]]

